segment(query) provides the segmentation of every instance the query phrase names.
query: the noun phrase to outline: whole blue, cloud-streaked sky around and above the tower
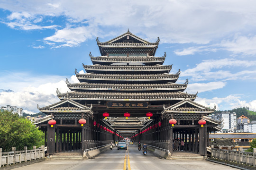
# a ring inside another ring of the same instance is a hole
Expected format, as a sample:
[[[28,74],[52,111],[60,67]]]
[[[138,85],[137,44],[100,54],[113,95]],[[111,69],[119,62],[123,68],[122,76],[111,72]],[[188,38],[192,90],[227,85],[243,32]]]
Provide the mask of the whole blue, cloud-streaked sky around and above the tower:
[[[256,110],[256,1],[251,0],[1,0],[0,106],[27,113],[58,102],[56,88],[91,65],[101,42],[129,31],[166,51],[177,83],[196,102]]]

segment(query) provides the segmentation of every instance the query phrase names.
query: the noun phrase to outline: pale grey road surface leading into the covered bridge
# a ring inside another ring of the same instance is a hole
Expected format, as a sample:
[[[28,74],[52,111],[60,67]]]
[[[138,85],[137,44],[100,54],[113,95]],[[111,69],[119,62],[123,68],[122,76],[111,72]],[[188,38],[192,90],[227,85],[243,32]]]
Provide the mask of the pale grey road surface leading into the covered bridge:
[[[128,145],[130,163],[127,170],[236,170],[229,166],[210,161],[195,160],[165,160],[152,153],[143,155],[137,150],[137,145]],[[34,163],[14,170],[126,170],[126,150],[107,150],[89,160],[49,160]]]

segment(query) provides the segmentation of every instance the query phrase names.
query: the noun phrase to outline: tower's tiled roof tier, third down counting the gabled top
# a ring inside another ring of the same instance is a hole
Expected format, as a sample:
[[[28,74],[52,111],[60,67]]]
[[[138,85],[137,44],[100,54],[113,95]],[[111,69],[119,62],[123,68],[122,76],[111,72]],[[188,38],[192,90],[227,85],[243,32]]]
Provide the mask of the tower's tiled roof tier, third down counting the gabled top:
[[[87,66],[83,65],[83,68],[86,70],[87,73],[91,72],[157,72],[157,73],[169,73],[172,69],[171,66],[163,66],[163,65],[154,65],[154,66],[108,66],[108,65],[92,65],[92,66]]]

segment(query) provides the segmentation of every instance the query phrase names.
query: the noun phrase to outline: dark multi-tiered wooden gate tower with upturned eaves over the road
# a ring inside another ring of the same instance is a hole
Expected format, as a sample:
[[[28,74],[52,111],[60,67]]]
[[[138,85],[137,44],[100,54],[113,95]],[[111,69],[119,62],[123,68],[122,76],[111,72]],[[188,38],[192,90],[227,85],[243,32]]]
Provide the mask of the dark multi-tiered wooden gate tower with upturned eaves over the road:
[[[207,132],[209,136],[209,131],[214,131],[219,122],[205,116],[214,109],[193,102],[197,94],[184,92],[188,80],[184,84],[175,83],[180,69],[171,73],[172,65],[163,65],[166,53],[155,57],[159,41],[158,37],[156,42],[147,42],[129,31],[107,42],[100,42],[97,37],[101,56],[94,57],[90,52],[93,65],[83,64],[85,74],[75,69],[80,83],[71,84],[66,79],[71,91],[57,90],[60,102],[44,108],[38,106],[40,111],[50,114],[44,121],[37,122],[42,130],[54,133],[45,122],[52,118],[57,122],[56,152],[70,147],[85,150],[123,136],[169,150],[172,150],[170,141],[180,138],[185,140],[187,151],[205,154],[206,150],[199,150],[197,142],[200,140],[202,146],[209,144],[205,140]],[[107,119],[102,116],[104,112],[110,114]],[[128,119],[124,117],[125,112],[130,113]],[[147,112],[153,113],[151,119],[146,117]],[[81,118],[87,119],[85,127],[77,125]],[[170,127],[169,119],[176,119],[177,124]],[[205,130],[200,129],[199,119],[207,120]],[[155,127],[155,124],[162,126]],[[101,125],[114,134],[106,135]],[[149,132],[142,133],[150,127]],[[64,143],[64,135],[73,137],[76,143]],[[48,135],[47,144],[54,146],[48,143],[49,136],[53,135]]]

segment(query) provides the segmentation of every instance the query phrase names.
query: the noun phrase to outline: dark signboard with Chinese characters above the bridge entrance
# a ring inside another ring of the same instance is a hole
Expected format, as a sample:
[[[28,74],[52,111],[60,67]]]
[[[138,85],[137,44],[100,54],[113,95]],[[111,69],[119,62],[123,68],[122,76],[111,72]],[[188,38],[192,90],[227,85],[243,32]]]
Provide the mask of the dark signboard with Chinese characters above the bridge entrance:
[[[148,102],[107,102],[107,108],[148,108]]]

